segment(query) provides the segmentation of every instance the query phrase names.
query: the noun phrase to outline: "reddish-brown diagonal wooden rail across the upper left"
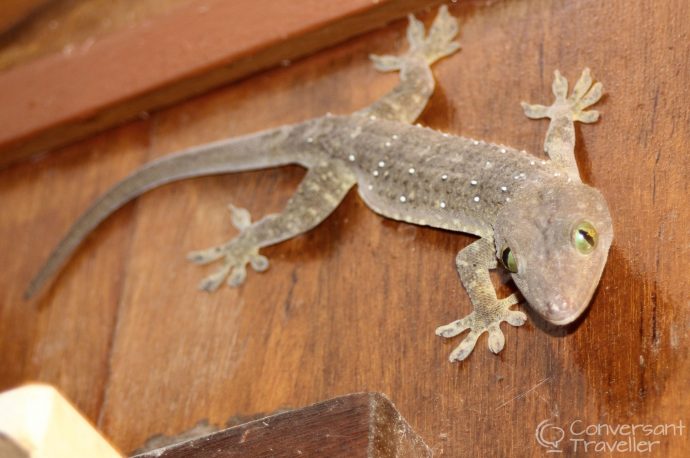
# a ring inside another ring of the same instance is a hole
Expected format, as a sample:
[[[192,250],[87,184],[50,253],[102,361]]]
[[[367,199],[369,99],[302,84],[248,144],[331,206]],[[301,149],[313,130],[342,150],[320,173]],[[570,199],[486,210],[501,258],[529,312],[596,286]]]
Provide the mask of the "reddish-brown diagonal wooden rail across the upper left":
[[[0,74],[0,165],[294,60],[430,0],[199,0]]]

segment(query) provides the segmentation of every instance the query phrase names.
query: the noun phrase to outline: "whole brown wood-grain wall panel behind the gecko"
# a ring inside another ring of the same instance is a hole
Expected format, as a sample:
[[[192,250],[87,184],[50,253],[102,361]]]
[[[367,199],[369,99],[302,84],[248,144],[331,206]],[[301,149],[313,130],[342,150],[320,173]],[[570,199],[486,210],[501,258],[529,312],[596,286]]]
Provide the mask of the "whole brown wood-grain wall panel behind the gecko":
[[[506,327],[500,355],[482,336],[449,364],[458,341],[433,330],[471,308],[453,268],[471,238],[383,219],[354,192],[320,227],[266,249],[265,274],[199,293],[207,271],[184,253],[234,234],[230,202],[255,217],[279,210],[298,168],[148,193],[95,231],[40,303],[20,299],[76,215],[144,161],[375,100],[396,76],[367,54],[403,49],[401,21],[0,172],[0,388],[57,385],[123,450],[203,418],[357,391],[386,393],[439,456],[543,456],[543,420],[690,424],[690,5],[525,0],[452,13],[463,47],[435,67],[424,124],[541,155],[546,123],[519,102],[549,102],[556,68],[572,81],[589,66],[604,83],[602,119],[577,128],[577,156],[615,239],[584,319]],[[655,440],[652,456],[690,454],[687,429]]]

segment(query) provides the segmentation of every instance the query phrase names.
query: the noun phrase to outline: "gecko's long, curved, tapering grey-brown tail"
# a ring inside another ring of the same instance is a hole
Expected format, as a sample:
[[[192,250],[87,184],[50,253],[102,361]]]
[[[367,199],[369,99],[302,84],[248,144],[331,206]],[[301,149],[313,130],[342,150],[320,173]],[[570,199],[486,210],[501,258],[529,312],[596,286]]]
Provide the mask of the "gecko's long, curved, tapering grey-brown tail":
[[[301,163],[295,154],[298,146],[291,147],[291,144],[296,137],[302,138],[299,131],[304,127],[283,126],[208,143],[144,165],[110,188],[79,217],[31,280],[24,298],[35,297],[60,272],[92,230],[146,191],[185,178]]]

